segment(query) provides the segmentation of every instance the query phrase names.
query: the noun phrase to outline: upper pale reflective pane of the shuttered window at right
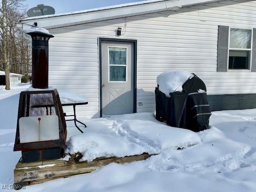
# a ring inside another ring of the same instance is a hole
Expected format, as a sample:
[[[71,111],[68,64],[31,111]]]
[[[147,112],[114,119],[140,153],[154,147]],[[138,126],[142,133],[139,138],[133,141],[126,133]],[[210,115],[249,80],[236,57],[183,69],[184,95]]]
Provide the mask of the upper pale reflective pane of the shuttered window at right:
[[[230,48],[251,48],[252,30],[230,29]]]

